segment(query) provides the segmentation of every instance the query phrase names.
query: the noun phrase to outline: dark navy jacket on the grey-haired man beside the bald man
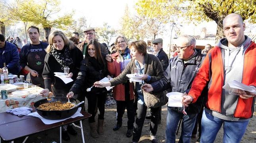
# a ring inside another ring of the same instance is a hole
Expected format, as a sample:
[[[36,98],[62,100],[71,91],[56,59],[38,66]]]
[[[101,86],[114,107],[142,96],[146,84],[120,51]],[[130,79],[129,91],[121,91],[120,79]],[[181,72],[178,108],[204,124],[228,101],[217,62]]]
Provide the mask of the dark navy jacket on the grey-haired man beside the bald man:
[[[153,92],[168,90],[169,92],[188,93],[204,58],[205,55],[201,54],[201,50],[197,49],[195,55],[186,63],[178,56],[173,57],[164,72],[163,78],[151,84],[154,89]],[[202,107],[203,100],[204,96],[200,96],[196,103],[189,104],[186,112],[198,113]],[[171,109],[182,112],[183,108],[171,107]]]

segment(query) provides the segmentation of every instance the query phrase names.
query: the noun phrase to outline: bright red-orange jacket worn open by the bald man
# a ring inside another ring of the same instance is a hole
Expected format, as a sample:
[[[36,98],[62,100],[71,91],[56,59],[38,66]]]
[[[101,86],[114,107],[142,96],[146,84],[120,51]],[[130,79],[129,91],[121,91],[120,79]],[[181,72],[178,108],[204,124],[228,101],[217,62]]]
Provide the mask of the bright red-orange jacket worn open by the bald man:
[[[235,75],[234,75],[235,76]],[[204,87],[208,85],[208,100],[206,108],[221,113],[221,92],[224,83],[223,60],[221,48],[215,46],[211,49],[198,74],[196,75],[188,95],[196,102]],[[244,53],[244,67],[242,73],[242,83],[256,86],[256,44],[251,41],[250,46]],[[242,99],[239,97],[234,113],[235,118],[251,118],[254,111],[254,98]]]

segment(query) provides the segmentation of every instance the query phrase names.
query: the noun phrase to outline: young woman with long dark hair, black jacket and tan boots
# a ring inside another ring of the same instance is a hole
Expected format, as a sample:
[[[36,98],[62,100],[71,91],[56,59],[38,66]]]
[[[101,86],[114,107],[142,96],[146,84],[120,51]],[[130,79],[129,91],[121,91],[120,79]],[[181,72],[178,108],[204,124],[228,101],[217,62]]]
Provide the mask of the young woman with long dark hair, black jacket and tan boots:
[[[105,54],[101,53],[100,45],[95,40],[90,40],[86,47],[85,58],[81,62],[80,71],[78,77],[67,94],[68,98],[72,98],[74,94],[81,92],[82,88],[89,88],[93,86],[95,81],[99,81],[104,77],[109,77],[107,71],[107,63],[105,60]],[[91,128],[91,136],[96,138],[103,132],[103,122],[105,113],[105,100],[107,97],[106,88],[92,87],[91,90],[85,92],[85,96],[88,100],[88,113],[92,116],[89,118],[89,125]],[[95,115],[99,109],[98,115],[98,129],[96,129]],[[98,134],[99,133],[99,134]]]

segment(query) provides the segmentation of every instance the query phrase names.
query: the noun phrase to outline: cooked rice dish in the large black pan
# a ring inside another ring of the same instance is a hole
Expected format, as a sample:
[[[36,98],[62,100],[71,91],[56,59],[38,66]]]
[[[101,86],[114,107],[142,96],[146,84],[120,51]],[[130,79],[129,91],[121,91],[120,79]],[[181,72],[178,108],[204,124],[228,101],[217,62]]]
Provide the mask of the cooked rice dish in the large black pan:
[[[50,102],[50,103],[43,103],[39,105],[38,109],[45,110],[45,111],[52,111],[52,110],[67,110],[74,107],[72,103],[62,103],[60,101],[57,102]]]

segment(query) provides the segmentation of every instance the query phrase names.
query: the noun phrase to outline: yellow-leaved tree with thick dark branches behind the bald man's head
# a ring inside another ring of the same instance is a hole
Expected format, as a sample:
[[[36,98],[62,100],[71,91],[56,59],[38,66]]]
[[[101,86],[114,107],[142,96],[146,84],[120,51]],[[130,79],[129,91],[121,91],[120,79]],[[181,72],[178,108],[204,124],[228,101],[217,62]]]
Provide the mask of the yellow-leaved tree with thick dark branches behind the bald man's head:
[[[180,0],[182,1],[182,0]],[[213,20],[217,24],[216,42],[224,37],[222,21],[230,13],[239,13],[242,19],[256,23],[255,0],[190,0],[182,8],[186,9],[182,16],[195,21]],[[185,5],[186,2],[182,4]]]

